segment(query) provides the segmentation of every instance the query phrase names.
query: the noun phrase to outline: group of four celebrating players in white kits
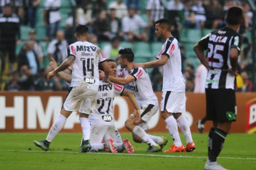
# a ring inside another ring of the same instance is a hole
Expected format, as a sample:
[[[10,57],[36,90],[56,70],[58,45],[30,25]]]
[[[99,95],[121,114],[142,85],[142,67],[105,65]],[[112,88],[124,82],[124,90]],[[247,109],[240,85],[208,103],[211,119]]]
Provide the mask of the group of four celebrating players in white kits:
[[[66,60],[57,67],[54,59],[50,65],[54,69],[49,72],[48,79],[56,73],[65,81],[71,83],[60,115],[54,121],[47,138],[34,141],[34,144],[44,151],[62,129],[66,119],[73,111],[80,113],[82,127],[81,152],[97,152],[107,150],[113,153],[126,150],[134,153],[130,141],[122,139],[114,126],[113,100],[115,94],[129,97],[134,106],[134,112],[124,122],[127,130],[132,132],[134,142],[146,143],[146,152],[161,152],[167,144],[164,136],[153,136],[146,131],[151,117],[158,111],[158,100],[153,92],[150,78],[144,68],[163,65],[163,94],[161,100],[161,115],[165,120],[174,144],[167,152],[191,152],[195,150],[188,121],[182,115],[185,112],[185,81],[181,73],[181,56],[177,40],[170,33],[170,23],[167,19],[156,21],[156,35],[165,43],[155,61],[134,63],[132,49],[119,50],[118,62],[123,71],[116,75],[117,64],[107,60],[101,49],[87,42],[88,28],[77,26],[75,38],[77,42],[70,44]],[[63,72],[72,68],[72,75]],[[124,88],[129,84],[133,92]],[[104,94],[104,95],[103,95]],[[177,122],[186,139],[186,146],[181,143]]]

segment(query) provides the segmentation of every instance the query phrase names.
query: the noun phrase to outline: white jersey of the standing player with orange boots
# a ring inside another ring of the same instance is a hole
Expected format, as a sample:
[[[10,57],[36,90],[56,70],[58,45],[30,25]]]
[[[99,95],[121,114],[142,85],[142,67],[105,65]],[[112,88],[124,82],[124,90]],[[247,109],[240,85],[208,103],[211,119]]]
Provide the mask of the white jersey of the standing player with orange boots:
[[[177,39],[168,38],[156,58],[160,59],[163,54],[167,55],[169,59],[163,65],[162,91],[185,92],[185,81],[181,72],[180,47]]]

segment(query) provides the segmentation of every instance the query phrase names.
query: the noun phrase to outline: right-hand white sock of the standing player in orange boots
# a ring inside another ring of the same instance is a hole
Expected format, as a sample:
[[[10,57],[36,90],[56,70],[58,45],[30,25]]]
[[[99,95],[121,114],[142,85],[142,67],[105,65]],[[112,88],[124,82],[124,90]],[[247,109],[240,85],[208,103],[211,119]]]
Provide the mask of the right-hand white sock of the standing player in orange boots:
[[[186,117],[181,115],[179,118],[177,118],[177,122],[179,123],[180,129],[186,138],[187,144],[193,142],[191,132],[190,132],[190,127],[189,127],[189,122],[186,119]]]

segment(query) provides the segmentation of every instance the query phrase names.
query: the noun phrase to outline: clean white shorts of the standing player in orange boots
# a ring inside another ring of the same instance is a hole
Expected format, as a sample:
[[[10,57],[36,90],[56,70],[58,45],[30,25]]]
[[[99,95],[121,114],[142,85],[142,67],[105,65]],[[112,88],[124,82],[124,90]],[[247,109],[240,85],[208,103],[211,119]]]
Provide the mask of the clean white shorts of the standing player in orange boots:
[[[185,92],[163,91],[161,98],[161,111],[168,113],[182,113],[186,111]]]

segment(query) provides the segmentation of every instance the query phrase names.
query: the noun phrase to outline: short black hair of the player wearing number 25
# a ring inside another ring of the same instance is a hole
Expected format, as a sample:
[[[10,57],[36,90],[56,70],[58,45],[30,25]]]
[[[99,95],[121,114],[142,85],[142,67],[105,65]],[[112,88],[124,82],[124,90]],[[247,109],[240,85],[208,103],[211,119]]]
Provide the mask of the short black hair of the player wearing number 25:
[[[228,9],[227,23],[230,25],[238,25],[243,19],[243,11],[241,8],[233,6]]]

